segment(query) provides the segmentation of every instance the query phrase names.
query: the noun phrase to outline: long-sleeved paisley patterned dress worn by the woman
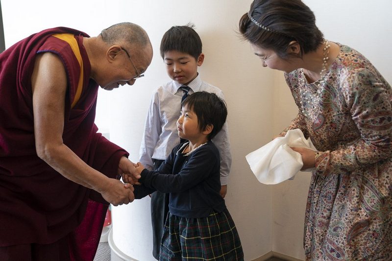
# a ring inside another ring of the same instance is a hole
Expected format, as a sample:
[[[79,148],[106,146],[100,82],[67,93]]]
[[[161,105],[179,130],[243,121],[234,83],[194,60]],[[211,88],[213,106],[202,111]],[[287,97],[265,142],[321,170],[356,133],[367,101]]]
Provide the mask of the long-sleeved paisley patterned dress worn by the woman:
[[[301,69],[285,75],[299,113],[281,135],[299,128],[318,149],[306,260],[392,260],[391,86],[362,54],[338,45],[321,84],[308,84]]]

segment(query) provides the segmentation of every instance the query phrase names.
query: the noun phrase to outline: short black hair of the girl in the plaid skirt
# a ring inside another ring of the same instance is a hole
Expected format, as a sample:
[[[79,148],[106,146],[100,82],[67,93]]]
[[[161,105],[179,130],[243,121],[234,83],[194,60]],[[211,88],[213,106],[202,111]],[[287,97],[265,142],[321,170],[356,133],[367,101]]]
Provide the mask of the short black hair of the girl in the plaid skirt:
[[[195,112],[200,131],[203,131],[208,124],[214,126],[207,136],[208,140],[213,139],[221,131],[227,117],[227,107],[223,99],[216,94],[196,92],[181,102],[181,108],[185,105]]]

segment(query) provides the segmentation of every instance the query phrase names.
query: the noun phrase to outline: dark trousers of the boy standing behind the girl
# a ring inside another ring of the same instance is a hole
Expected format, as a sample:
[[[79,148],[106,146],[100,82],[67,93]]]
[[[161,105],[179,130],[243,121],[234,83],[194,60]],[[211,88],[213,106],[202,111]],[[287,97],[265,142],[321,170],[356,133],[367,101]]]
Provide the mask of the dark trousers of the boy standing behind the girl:
[[[164,160],[155,160],[154,170],[158,169]],[[169,193],[155,191],[151,194],[151,224],[152,224],[152,255],[159,260],[163,229],[169,212]]]

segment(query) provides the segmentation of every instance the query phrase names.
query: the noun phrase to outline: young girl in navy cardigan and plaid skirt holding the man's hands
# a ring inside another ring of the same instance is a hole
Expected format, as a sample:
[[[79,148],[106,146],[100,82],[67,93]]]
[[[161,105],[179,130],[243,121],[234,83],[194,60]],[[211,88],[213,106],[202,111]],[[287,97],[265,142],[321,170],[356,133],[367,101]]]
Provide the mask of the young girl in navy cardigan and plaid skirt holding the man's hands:
[[[135,198],[170,193],[159,260],[244,260],[237,229],[220,195],[220,156],[211,139],[221,130],[226,105],[217,95],[196,92],[181,104],[180,138],[157,171],[138,163]],[[126,182],[129,176],[124,178]]]

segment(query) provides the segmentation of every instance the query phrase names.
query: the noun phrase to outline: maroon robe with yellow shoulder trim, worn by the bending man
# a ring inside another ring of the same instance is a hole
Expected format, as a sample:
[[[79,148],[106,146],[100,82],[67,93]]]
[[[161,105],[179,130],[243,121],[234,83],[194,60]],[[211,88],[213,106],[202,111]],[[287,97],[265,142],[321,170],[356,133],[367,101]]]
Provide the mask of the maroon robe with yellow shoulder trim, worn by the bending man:
[[[71,40],[53,34],[68,34],[65,36]],[[31,91],[37,54],[49,51],[59,55],[68,79],[64,144],[89,166],[116,178],[120,158],[128,154],[97,133],[98,85],[90,79],[83,37],[89,36],[65,27],[47,29],[0,54],[1,247],[50,244],[75,235],[71,237],[71,256],[77,260],[80,255],[86,255],[84,260],[91,255],[94,258],[108,203],[96,191],[66,179],[37,156]],[[85,220],[78,227],[84,217],[96,219]],[[89,243],[84,244],[84,240]]]

